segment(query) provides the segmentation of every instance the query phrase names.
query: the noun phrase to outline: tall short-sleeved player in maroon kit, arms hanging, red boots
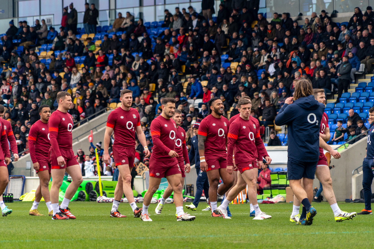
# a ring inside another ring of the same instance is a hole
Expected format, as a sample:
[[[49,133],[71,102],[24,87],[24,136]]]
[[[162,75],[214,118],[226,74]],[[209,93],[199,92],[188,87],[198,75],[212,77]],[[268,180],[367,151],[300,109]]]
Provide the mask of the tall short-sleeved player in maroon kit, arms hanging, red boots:
[[[118,212],[123,193],[129,200],[129,204],[134,212],[134,217],[139,217],[141,208],[137,207],[134,201],[134,194],[131,189],[131,170],[135,160],[135,133],[138,140],[144,146],[145,157],[149,156],[145,135],[140,126],[140,117],[137,110],[131,108],[132,91],[122,90],[120,94],[121,106],[112,111],[108,116],[107,127],[104,136],[104,163],[110,164],[109,143],[110,136],[114,131],[113,157],[116,167],[119,170],[118,182],[114,190],[113,206],[110,217],[125,218]]]

